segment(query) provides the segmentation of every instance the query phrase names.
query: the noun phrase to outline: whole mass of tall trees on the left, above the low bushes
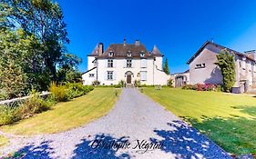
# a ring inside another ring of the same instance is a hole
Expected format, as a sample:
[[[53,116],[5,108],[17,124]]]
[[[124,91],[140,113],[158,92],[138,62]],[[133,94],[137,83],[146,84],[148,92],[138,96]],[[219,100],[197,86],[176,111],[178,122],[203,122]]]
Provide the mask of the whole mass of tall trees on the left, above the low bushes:
[[[32,87],[45,91],[51,81],[62,80],[58,69],[78,73],[81,61],[67,53],[67,25],[57,3],[0,1],[0,94],[18,96]]]

